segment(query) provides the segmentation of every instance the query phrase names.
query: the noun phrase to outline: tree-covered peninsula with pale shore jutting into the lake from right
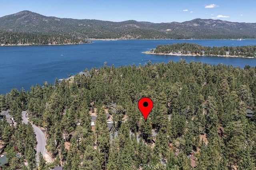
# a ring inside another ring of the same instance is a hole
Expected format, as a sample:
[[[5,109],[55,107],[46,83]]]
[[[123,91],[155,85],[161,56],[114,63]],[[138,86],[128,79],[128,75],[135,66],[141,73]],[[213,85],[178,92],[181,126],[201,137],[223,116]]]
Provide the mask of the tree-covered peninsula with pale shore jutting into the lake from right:
[[[158,45],[145,54],[177,55],[177,56],[218,56],[218,57],[241,57],[255,58],[256,45],[238,47],[205,47],[195,43],[175,43],[171,45]]]

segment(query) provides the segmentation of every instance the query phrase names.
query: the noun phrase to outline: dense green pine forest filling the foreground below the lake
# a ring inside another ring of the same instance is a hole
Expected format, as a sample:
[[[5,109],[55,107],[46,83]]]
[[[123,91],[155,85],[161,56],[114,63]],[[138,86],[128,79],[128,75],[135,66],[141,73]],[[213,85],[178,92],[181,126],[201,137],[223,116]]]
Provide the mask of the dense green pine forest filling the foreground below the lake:
[[[256,119],[246,117],[246,109],[255,111],[256,67],[180,60],[117,68],[104,63],[85,72],[73,82],[44,82],[29,92],[13,89],[0,96],[1,110],[10,109],[17,120],[27,110],[30,121],[46,129],[55,165],[65,170],[255,169]],[[154,102],[147,121],[137,106],[142,97]],[[18,145],[22,125],[17,122],[17,129],[0,126],[0,139],[9,147]],[[28,160],[27,146],[18,148]],[[39,166],[46,170],[53,164],[41,158]]]

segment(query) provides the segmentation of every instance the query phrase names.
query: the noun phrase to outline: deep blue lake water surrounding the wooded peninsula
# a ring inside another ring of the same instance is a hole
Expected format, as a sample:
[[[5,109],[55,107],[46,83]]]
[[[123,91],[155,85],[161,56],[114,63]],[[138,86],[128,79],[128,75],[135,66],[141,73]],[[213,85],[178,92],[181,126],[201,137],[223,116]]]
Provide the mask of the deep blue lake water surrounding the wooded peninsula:
[[[66,78],[67,74],[78,73],[88,68],[121,66],[148,62],[168,63],[168,61],[201,61],[209,64],[229,64],[244,68],[246,64],[256,66],[256,59],[228,57],[184,57],[146,55],[156,45],[172,43],[197,43],[203,46],[256,45],[256,39],[234,40],[118,40],[93,41],[82,45],[44,45],[0,47],[0,94],[12,88],[30,90],[32,85],[54,82],[55,78]],[[63,55],[63,56],[61,56]]]

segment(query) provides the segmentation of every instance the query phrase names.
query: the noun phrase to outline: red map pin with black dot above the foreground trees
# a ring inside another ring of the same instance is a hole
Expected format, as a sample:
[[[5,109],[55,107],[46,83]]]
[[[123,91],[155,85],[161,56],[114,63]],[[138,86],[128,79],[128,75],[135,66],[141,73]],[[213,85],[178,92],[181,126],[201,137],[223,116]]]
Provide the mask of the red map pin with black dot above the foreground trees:
[[[142,98],[138,102],[138,108],[146,121],[150,111],[153,108],[153,101],[150,98]]]

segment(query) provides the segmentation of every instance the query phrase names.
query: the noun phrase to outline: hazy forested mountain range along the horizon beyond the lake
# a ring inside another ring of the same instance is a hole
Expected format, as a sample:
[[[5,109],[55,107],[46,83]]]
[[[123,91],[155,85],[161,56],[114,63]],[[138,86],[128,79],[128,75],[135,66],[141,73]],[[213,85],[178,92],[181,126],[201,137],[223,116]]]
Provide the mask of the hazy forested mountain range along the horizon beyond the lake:
[[[58,34],[82,39],[245,39],[256,38],[256,23],[200,18],[181,23],[112,22],[22,11],[1,17],[0,32]]]

